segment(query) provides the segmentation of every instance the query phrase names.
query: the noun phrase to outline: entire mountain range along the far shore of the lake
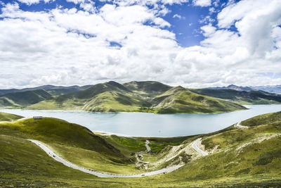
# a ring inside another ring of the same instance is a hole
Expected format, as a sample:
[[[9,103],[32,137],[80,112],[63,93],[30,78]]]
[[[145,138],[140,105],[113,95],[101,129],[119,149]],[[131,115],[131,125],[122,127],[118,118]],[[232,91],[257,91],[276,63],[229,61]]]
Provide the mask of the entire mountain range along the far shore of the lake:
[[[37,110],[221,113],[246,109],[241,104],[280,103],[281,95],[251,87],[187,89],[155,81],[0,90],[1,107]]]

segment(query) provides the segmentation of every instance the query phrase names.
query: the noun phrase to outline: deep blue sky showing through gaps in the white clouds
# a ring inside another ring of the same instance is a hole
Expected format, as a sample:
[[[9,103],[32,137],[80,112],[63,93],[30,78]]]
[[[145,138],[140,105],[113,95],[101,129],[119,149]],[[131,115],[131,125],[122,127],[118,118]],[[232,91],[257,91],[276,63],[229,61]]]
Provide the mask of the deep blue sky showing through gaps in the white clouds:
[[[25,4],[21,1],[8,0],[2,0],[2,2],[4,2],[4,4],[13,2],[18,3],[20,9],[23,11],[48,11],[59,6],[62,6],[63,8],[77,8],[78,10],[83,11],[83,8],[80,8],[79,4],[74,4],[73,2],[67,2],[65,0],[49,1],[48,3],[39,1],[39,3],[36,4]],[[105,4],[113,4],[112,2],[103,1],[94,2],[94,6],[97,10]],[[166,29],[176,34],[176,42],[178,42],[179,45],[184,47],[200,45],[200,42],[205,38],[202,35],[202,32],[200,32],[200,27],[206,25],[206,23],[216,25],[216,16],[218,12],[221,11],[229,1],[222,0],[217,2],[216,6],[214,6],[214,4],[213,6],[194,6],[192,1],[181,4],[167,4],[166,8],[169,9],[169,13],[166,13],[166,15],[162,15],[161,17],[171,24],[171,27],[167,27]],[[234,2],[235,1],[233,1],[233,3]],[[0,5],[0,7],[3,7],[3,5]],[[211,12],[210,8],[214,8],[214,12]],[[209,16],[210,19],[204,20],[207,16]],[[231,28],[231,30],[235,30],[235,27]]]

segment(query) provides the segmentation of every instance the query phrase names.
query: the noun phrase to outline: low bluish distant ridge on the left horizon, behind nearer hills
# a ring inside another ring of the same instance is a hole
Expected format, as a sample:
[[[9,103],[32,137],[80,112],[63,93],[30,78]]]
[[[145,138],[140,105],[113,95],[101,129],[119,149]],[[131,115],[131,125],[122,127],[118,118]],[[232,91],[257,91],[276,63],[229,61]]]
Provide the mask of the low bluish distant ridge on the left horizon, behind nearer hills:
[[[43,85],[39,87],[30,87],[30,88],[24,88],[24,89],[0,89],[0,96],[4,94],[10,94],[10,93],[15,93],[15,92],[26,92],[26,91],[34,91],[38,89],[44,89],[46,92],[49,94],[55,96],[55,95],[61,95],[61,94],[68,94],[72,92],[77,92],[81,91],[84,89],[87,89],[91,87],[92,85],[85,85],[85,86],[78,86],[78,85],[73,85],[73,86],[55,86],[55,85]]]

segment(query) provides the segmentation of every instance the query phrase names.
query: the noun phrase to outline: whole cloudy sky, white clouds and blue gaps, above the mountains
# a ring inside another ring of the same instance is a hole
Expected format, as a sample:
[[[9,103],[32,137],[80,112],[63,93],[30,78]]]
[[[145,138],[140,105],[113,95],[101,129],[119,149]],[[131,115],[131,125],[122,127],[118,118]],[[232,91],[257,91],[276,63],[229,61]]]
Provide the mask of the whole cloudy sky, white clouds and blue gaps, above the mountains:
[[[0,0],[0,89],[281,84],[280,0]]]

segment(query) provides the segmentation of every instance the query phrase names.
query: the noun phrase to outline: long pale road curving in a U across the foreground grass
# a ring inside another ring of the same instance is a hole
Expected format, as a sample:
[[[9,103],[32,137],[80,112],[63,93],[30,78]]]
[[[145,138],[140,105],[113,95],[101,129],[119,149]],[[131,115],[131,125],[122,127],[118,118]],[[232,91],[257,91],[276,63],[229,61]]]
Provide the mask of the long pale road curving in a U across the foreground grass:
[[[177,170],[178,168],[181,168],[183,165],[175,165],[170,168],[163,168],[161,170],[155,170],[149,173],[142,173],[142,174],[136,174],[136,175],[126,175],[126,174],[113,174],[113,173],[105,173],[105,172],[96,172],[94,170],[90,170],[87,168],[83,168],[79,165],[74,165],[73,163],[70,163],[69,161],[65,161],[63,158],[55,154],[51,149],[49,149],[46,144],[43,142],[34,140],[34,139],[28,139],[30,142],[33,142],[34,144],[37,144],[41,149],[43,149],[48,156],[51,156],[51,158],[55,159],[55,161],[58,161],[60,163],[63,163],[64,165],[74,168],[76,170],[80,170],[84,173],[89,173],[91,175],[96,175],[98,177],[145,177],[145,176],[150,176],[150,175],[158,175],[161,173],[170,173],[171,171]]]

